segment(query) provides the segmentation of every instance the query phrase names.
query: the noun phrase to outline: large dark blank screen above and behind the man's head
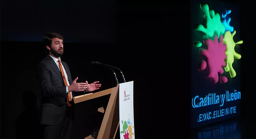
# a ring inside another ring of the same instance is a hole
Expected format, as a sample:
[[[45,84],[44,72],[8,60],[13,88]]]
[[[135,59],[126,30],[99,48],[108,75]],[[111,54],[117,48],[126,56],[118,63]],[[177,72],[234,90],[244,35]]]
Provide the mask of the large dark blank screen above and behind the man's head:
[[[116,1],[1,1],[1,40],[41,42],[53,30],[65,42],[114,43]]]

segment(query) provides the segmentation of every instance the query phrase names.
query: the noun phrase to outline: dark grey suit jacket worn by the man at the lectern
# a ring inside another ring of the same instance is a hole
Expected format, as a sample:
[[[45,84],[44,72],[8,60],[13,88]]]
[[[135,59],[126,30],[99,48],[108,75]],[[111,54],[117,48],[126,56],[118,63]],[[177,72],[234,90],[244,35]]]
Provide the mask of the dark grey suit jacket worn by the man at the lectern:
[[[68,64],[61,60],[70,84],[73,82]],[[66,111],[67,93],[61,72],[49,55],[37,67],[37,81],[39,83],[42,100],[39,122],[45,125],[57,125],[63,119]],[[72,95],[74,96],[73,92]]]

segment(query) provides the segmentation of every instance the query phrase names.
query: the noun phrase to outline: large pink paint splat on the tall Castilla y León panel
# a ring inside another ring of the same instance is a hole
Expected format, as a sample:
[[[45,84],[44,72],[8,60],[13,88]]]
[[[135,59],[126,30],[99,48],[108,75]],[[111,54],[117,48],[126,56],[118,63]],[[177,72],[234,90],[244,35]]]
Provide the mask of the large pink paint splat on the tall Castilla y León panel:
[[[215,35],[215,39],[212,41],[211,39],[207,39],[203,41],[207,44],[208,49],[200,48],[199,53],[207,57],[207,76],[206,78],[211,78],[212,83],[217,83],[219,75],[223,74],[223,67],[226,66],[225,58],[227,57],[225,51],[227,49],[227,45],[223,44],[223,35],[220,36],[220,41],[218,42],[217,35]],[[206,63],[206,62],[205,62]],[[199,69],[205,69],[205,63],[202,62],[201,67]],[[224,77],[223,77],[224,79]],[[224,82],[226,80],[224,79]]]

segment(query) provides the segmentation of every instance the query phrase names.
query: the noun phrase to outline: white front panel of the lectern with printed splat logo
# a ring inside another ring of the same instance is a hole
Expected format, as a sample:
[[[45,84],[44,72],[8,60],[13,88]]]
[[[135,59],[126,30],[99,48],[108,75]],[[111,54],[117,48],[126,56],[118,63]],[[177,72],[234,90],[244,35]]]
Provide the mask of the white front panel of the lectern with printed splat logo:
[[[135,139],[133,118],[133,81],[119,84],[120,139]]]

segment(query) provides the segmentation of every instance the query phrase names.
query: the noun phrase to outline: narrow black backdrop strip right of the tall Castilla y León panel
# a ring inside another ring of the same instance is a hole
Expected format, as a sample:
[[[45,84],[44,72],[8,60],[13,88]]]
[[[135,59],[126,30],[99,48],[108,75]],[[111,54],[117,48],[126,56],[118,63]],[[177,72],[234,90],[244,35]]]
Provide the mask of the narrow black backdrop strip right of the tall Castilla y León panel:
[[[250,65],[255,65],[254,61],[254,52],[255,52],[255,23],[252,22],[252,18],[255,13],[253,12],[255,6],[250,4],[250,1],[241,2],[241,17],[240,17],[240,30],[241,30],[241,39],[244,41],[244,47],[241,49],[244,58],[241,62],[241,91],[245,92],[243,94],[242,103],[242,120],[245,125],[245,137],[250,137],[254,134],[255,128],[252,128],[255,123],[254,107],[255,107],[255,98],[256,94],[253,93],[255,87],[255,78],[254,74],[255,69],[250,68]],[[252,29],[251,29],[252,28]],[[249,68],[248,68],[249,67]],[[254,67],[254,66],[252,66]]]

